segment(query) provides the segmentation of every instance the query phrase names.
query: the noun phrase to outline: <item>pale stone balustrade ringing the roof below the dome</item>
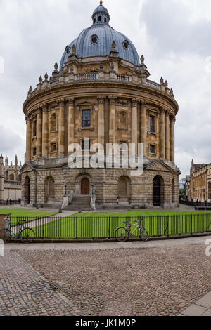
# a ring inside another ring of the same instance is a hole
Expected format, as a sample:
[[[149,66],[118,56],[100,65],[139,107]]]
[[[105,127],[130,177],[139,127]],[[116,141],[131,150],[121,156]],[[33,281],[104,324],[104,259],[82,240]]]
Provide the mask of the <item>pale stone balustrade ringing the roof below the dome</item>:
[[[157,84],[154,81],[148,80],[148,79],[142,79],[140,77],[135,77],[132,75],[127,74],[120,74],[113,72],[112,74],[101,74],[101,72],[98,73],[79,73],[74,74],[73,72],[70,72],[68,74],[68,77],[63,77],[62,75],[58,74],[58,77],[52,77],[50,81],[45,80],[39,82],[37,85],[37,88],[34,89],[34,91],[29,92],[28,97],[30,95],[34,95],[34,93],[37,93],[39,91],[42,91],[46,88],[52,88],[54,86],[62,85],[62,84],[72,84],[77,81],[122,81],[127,82],[129,84],[138,84],[142,86],[148,86],[150,88],[154,88],[157,91],[162,91],[163,93],[167,93],[172,98],[174,98],[173,91],[170,91],[170,88],[167,88],[164,84]]]

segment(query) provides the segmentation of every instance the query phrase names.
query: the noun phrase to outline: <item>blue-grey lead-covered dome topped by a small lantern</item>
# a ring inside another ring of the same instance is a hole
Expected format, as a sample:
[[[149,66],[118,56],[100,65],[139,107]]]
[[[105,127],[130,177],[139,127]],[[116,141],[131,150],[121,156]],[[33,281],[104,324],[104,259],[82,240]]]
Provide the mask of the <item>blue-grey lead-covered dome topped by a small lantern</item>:
[[[116,43],[116,51],[119,58],[127,60],[134,65],[139,65],[139,55],[134,44],[124,34],[117,32],[110,27],[110,15],[108,9],[101,4],[95,9],[92,15],[93,25],[84,29],[77,39],[72,41],[65,48],[60,61],[60,70],[68,62],[68,56],[72,53],[72,46],[75,45],[75,55],[78,58],[90,58],[108,56],[112,50],[112,43]]]

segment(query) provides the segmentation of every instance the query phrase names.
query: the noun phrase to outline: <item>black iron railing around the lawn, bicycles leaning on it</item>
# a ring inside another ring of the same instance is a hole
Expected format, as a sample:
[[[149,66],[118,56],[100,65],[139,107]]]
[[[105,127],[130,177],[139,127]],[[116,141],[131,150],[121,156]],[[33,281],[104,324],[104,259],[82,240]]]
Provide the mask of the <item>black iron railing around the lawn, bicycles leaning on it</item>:
[[[24,220],[25,227],[32,228],[37,239],[112,239],[115,237],[117,227],[125,227],[125,221],[133,224],[141,218],[143,218],[141,225],[146,228],[149,237],[211,232],[211,213],[143,217],[11,216],[11,223],[14,230],[18,230],[17,224]],[[138,230],[135,236],[138,237]]]

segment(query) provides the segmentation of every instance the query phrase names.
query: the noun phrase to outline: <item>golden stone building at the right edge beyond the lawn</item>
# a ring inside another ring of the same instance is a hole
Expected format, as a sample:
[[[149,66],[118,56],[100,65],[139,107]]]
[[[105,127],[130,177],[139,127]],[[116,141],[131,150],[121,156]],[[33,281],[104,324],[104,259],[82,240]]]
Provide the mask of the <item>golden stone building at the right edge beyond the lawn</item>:
[[[211,164],[191,163],[188,200],[211,202]]]

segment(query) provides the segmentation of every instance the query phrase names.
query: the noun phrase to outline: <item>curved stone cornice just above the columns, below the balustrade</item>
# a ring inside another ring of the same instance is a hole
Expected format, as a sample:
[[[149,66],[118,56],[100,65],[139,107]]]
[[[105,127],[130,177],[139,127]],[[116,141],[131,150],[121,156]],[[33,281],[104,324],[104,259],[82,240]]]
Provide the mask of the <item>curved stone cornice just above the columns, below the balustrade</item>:
[[[57,85],[57,86],[53,86],[52,88],[46,88],[43,91],[39,91],[37,93],[35,93],[34,95],[31,95],[30,98],[27,98],[27,100],[25,100],[25,103],[23,104],[23,111],[24,113],[26,112],[27,107],[29,107],[34,101],[39,101],[40,98],[44,97],[45,95],[53,95],[56,92],[59,91],[71,91],[72,89],[77,88],[77,94],[76,95],[72,95],[72,97],[82,97],[82,96],[86,96],[86,94],[84,93],[79,93],[79,92],[83,92],[83,89],[86,87],[93,87],[94,91],[90,91],[87,92],[88,95],[96,95],[96,87],[103,87],[103,88],[127,88],[130,90],[131,95],[133,95],[133,91],[141,91],[141,92],[146,92],[148,94],[148,102],[154,102],[155,104],[157,104],[158,106],[160,106],[160,104],[158,102],[156,102],[156,100],[151,100],[150,95],[156,95],[158,97],[160,97],[162,100],[165,100],[167,103],[170,103],[170,105],[174,108],[174,113],[177,114],[179,107],[177,104],[177,101],[174,100],[173,98],[170,97],[170,95],[167,95],[166,93],[162,92],[162,91],[158,91],[154,88],[151,88],[149,86],[143,86],[140,84],[134,84],[134,83],[129,83],[129,82],[122,82],[122,81],[77,81],[76,83],[70,83],[70,84],[63,84],[63,85]],[[108,91],[105,91],[105,97],[106,95],[108,95]],[[128,95],[128,92],[127,92]],[[55,98],[55,95],[53,95]],[[104,96],[104,95],[103,95]],[[113,95],[113,97],[117,98],[119,95],[117,93],[117,95]],[[66,96],[68,98],[68,95]],[[136,98],[137,95],[134,94],[134,98]],[[131,97],[133,98],[133,96]],[[141,98],[141,96],[140,96]],[[143,98],[143,96],[142,96]],[[147,97],[146,97],[147,98]]]

